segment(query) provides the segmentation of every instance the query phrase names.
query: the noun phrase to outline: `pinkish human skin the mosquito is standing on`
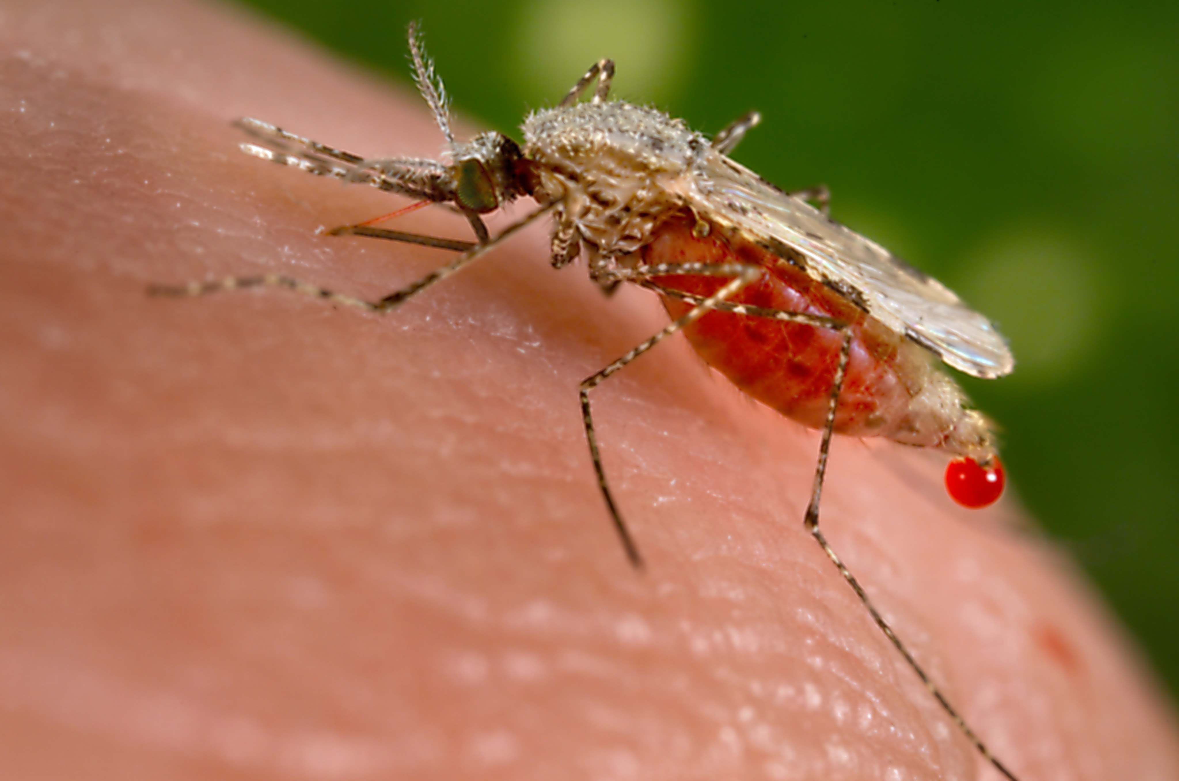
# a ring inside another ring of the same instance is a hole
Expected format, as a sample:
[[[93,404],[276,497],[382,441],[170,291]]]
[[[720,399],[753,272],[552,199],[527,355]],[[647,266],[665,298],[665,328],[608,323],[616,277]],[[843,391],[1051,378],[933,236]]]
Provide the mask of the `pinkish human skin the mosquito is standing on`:
[[[435,156],[420,101],[222,8],[0,12],[0,777],[997,777],[803,530],[817,434],[680,339],[594,398],[627,565],[577,385],[666,316],[544,229],[383,317],[145,294],[448,260],[320,235],[403,202],[229,125]],[[838,438],[824,495],[914,655],[1023,781],[1179,777],[1100,602],[943,464]]]

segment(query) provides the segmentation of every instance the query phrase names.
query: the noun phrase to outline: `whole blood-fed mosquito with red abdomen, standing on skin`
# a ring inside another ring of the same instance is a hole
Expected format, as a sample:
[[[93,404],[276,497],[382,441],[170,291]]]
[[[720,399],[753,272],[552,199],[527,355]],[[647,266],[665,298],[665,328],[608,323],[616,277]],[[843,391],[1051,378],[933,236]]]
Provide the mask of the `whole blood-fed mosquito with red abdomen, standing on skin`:
[[[614,64],[604,59],[555,107],[525,119],[522,146],[498,132],[460,142],[416,24],[409,26],[409,55],[419,91],[446,137],[446,160],[364,158],[257,119],[238,122],[252,137],[241,147],[264,160],[415,199],[390,215],[329,232],[452,250],[459,252],[454,260],[375,301],[274,274],[157,286],[152,293],[196,296],[269,286],[383,314],[551,216],[553,268],[585,255],[590,278],[605,293],[624,282],[638,284],[657,293],[671,316],[659,333],[580,385],[598,487],[634,569],[641,570],[644,559],[602,467],[590,394],[683,332],[704,360],[744,393],[822,432],[803,519],[806,530],[959,729],[1015,781],[819,530],[819,498],[835,433],[937,448],[954,457],[946,485],[955,500],[981,507],[1000,497],[1005,478],[992,424],[938,366],[940,360],[987,379],[1010,373],[1014,359],[994,326],[933,277],[831,219],[825,188],[785,192],[730,159],[760,120],[757,112],[709,140],[656,109],[607,100]],[[582,100],[591,86],[592,96]],[[493,237],[482,215],[525,196],[540,208]],[[429,204],[446,204],[466,217],[475,241],[376,227]]]

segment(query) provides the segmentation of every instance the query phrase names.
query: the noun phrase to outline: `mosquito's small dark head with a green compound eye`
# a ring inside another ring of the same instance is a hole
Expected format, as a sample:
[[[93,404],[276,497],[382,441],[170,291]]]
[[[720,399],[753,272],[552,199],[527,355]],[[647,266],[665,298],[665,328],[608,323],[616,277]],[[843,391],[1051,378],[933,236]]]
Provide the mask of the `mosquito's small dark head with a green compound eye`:
[[[485,214],[525,195],[516,172],[520,159],[520,146],[502,133],[455,144],[449,168],[456,205]]]

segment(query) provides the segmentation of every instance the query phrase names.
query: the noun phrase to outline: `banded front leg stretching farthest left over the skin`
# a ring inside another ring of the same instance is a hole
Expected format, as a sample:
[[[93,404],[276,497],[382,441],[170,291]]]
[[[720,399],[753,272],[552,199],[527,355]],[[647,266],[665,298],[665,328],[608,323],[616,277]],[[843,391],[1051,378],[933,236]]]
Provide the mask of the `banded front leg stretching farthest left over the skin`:
[[[364,298],[357,298],[355,296],[350,296],[347,294],[334,293],[325,288],[321,288],[316,284],[303,282],[301,280],[296,280],[295,277],[289,277],[281,274],[264,274],[259,276],[231,276],[216,282],[190,282],[189,284],[182,284],[182,286],[156,284],[149,287],[147,293],[150,295],[199,296],[210,293],[217,293],[219,290],[238,290],[238,289],[256,288],[256,287],[275,287],[275,288],[286,288],[288,290],[302,293],[304,295],[309,295],[315,298],[334,301],[336,303],[341,303],[348,307],[356,307],[358,309],[365,309],[368,311],[384,314],[390,309],[395,308],[396,306],[403,303],[407,298],[417,295],[419,293],[430,287],[432,284],[441,282],[442,280],[450,276],[455,271],[459,271],[460,269],[463,269],[470,263],[477,261],[480,257],[486,255],[493,248],[498,247],[500,242],[502,242],[511,235],[515,234],[516,231],[522,230],[527,225],[532,224],[541,216],[548,214],[555,205],[556,205],[555,203],[552,203],[546,206],[542,206],[541,209],[538,209],[527,217],[505,228],[499,236],[496,236],[494,239],[489,242],[486,242],[483,244],[475,244],[473,247],[468,244],[467,251],[465,251],[462,255],[454,258],[446,265],[435,269],[434,271],[430,271],[422,278],[407,284],[400,290],[390,293],[383,298],[377,298],[376,301],[365,301]],[[377,228],[373,230],[380,231],[382,229]],[[383,231],[383,232],[396,232],[396,231]],[[417,238],[422,237],[415,236],[414,234],[407,234],[407,236],[413,236],[414,239],[406,239],[402,237],[397,237],[395,241],[411,241],[411,243],[422,243],[416,241]],[[378,237],[388,238],[387,236],[378,236]],[[424,238],[430,238],[430,237],[424,237]],[[444,242],[446,239],[437,239],[437,241]],[[460,244],[462,242],[455,242],[455,243]],[[430,245],[433,247],[436,244],[430,244]],[[452,247],[444,249],[454,249],[454,248]]]

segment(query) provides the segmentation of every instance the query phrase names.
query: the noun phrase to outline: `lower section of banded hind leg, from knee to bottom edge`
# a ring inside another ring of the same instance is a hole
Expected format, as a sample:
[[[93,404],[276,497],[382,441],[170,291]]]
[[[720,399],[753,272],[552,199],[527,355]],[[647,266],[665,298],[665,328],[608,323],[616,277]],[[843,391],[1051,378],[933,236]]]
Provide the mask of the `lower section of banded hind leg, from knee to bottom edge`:
[[[874,605],[871,599],[868,598],[868,593],[864,591],[863,586],[859,585],[859,580],[856,579],[856,576],[851,573],[851,571],[843,563],[843,559],[841,559],[839,556],[835,552],[835,549],[831,547],[831,544],[826,542],[826,537],[824,537],[823,532],[819,531],[818,527],[819,498],[823,493],[823,478],[826,474],[826,461],[831,452],[831,434],[835,431],[835,413],[839,405],[839,393],[843,389],[843,380],[847,376],[848,357],[850,354],[851,354],[851,332],[844,330],[843,346],[839,349],[839,363],[835,370],[835,381],[831,383],[831,401],[826,411],[826,421],[823,424],[823,439],[822,442],[819,444],[819,449],[818,449],[818,464],[815,466],[815,483],[811,487],[811,500],[810,504],[806,506],[806,516],[803,523],[806,526],[806,531],[811,533],[811,536],[815,538],[815,542],[818,543],[819,547],[823,549],[823,552],[826,553],[828,558],[831,559],[836,569],[839,570],[839,575],[843,576],[843,579],[848,582],[848,585],[851,586],[851,590],[856,592],[857,597],[859,597],[859,602],[871,615],[872,621],[876,622],[876,625],[880,626],[881,631],[884,632],[884,636],[889,638],[889,641],[893,643],[896,650],[901,652],[901,656],[904,657],[904,661],[908,662],[909,667],[913,668],[914,672],[917,674],[917,677],[921,678],[921,682],[926,684],[926,688],[929,690],[929,693],[934,695],[935,700],[937,700],[937,703],[942,707],[942,710],[944,710],[949,715],[949,717],[954,720],[954,723],[957,724],[959,729],[962,731],[963,735],[966,735],[967,740],[969,740],[974,744],[979,754],[986,757],[987,761],[989,761],[995,767],[996,770],[1002,773],[1005,777],[1009,779],[1010,781],[1017,781],[1015,775],[1010,770],[1008,770],[1007,767],[1005,767],[1003,763],[1000,762],[994,754],[990,753],[990,750],[983,744],[983,742],[979,739],[975,731],[970,729],[970,726],[966,723],[966,720],[959,714],[957,710],[955,710],[954,705],[950,704],[946,695],[942,694],[942,690],[937,687],[937,684],[934,683],[934,681],[929,677],[928,674],[926,674],[926,671],[922,669],[917,659],[913,657],[913,654],[909,652],[909,649],[905,648],[904,643],[901,642],[901,638],[897,637],[896,632],[893,631],[893,628],[884,619],[884,616],[881,615],[881,612],[876,609],[876,605]]]

